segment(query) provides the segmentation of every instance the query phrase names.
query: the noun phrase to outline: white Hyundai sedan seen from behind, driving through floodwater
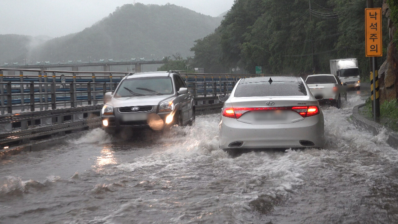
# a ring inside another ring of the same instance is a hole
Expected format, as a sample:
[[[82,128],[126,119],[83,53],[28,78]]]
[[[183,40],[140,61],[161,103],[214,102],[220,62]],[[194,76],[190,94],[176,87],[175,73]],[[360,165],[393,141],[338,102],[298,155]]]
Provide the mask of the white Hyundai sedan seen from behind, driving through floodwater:
[[[224,102],[221,149],[302,148],[324,145],[324,116],[300,77],[240,79]]]

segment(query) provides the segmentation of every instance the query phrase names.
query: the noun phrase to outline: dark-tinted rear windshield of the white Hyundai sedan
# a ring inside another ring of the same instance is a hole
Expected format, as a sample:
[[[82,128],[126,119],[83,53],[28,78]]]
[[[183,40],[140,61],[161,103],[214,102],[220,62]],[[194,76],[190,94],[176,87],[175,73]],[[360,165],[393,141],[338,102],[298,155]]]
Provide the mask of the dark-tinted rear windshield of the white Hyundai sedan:
[[[240,83],[236,86],[235,97],[251,96],[306,96],[304,83],[299,82],[256,82]]]

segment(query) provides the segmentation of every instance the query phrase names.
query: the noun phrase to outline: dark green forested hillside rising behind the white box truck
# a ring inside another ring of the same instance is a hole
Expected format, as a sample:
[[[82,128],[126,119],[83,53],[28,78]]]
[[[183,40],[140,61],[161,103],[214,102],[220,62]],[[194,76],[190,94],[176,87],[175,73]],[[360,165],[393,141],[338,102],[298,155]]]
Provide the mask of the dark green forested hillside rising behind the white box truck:
[[[215,33],[195,41],[194,66],[217,73],[237,66],[250,73],[256,66],[267,74],[330,73],[330,59],[352,57],[369,74],[365,8],[363,0],[237,0]]]

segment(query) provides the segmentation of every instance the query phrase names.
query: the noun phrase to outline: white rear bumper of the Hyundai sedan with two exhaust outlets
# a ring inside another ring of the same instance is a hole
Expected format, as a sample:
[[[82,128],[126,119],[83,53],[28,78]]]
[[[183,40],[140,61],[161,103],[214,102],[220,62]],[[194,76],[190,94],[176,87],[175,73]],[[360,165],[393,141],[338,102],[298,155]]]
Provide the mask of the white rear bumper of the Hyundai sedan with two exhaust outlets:
[[[222,117],[219,130],[219,144],[222,149],[324,146],[322,113],[291,124],[246,124],[234,118]],[[240,147],[229,147],[231,143],[238,141],[243,142]],[[302,145],[300,141],[310,141],[314,145]]]

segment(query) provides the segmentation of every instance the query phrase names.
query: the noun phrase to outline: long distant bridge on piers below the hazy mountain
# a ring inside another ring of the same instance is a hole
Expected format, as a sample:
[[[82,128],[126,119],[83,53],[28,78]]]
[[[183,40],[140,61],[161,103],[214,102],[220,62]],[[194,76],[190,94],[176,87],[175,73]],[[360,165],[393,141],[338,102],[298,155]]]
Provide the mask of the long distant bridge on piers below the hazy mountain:
[[[70,71],[79,71],[80,67],[103,67],[104,72],[111,71],[112,66],[119,65],[134,65],[132,72],[141,72],[142,65],[162,65],[164,61],[159,60],[145,60],[145,59],[131,59],[130,61],[113,61],[112,59],[101,59],[99,61],[82,62],[66,61],[58,63],[50,63],[50,61],[36,62],[32,64],[18,64],[18,63],[4,63],[5,68],[14,69],[41,69],[42,71],[53,68],[70,68]],[[10,75],[13,75],[13,70],[9,70]]]

